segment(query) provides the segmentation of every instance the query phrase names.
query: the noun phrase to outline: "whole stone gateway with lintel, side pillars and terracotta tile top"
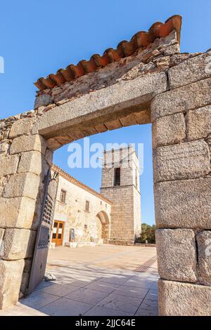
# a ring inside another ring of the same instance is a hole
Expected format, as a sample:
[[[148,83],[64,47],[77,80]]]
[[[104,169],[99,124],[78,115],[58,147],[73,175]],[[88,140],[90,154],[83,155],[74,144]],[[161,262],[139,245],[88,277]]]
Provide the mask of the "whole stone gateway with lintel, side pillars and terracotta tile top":
[[[181,54],[180,29],[174,16],[39,79],[34,110],[0,121],[0,308],[27,291],[33,256],[48,249],[53,151],[152,123],[160,315],[211,314],[211,52]]]

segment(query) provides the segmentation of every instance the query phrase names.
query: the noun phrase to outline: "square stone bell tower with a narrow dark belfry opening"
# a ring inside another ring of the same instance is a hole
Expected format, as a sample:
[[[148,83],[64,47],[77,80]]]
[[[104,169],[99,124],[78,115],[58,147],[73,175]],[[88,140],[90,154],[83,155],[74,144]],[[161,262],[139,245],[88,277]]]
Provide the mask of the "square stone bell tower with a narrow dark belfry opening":
[[[132,145],[104,152],[101,194],[111,206],[110,241],[134,244],[141,233],[139,159]]]

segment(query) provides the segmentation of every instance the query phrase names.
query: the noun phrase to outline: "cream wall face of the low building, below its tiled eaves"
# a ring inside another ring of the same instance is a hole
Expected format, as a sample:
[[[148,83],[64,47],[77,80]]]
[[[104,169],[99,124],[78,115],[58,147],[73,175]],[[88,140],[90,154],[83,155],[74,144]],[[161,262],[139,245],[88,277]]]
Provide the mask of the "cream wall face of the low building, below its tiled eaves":
[[[61,190],[66,191],[65,203],[60,202]],[[89,202],[89,211],[85,210],[86,201]],[[70,241],[70,228],[75,229],[75,242],[77,243],[108,239],[109,237],[102,237],[102,225],[109,227],[109,223],[105,222],[106,219],[101,218],[103,224],[100,226],[99,221],[101,222],[101,220],[97,218],[97,215],[104,211],[110,220],[110,210],[111,204],[59,176],[54,220],[65,223],[63,245]]]

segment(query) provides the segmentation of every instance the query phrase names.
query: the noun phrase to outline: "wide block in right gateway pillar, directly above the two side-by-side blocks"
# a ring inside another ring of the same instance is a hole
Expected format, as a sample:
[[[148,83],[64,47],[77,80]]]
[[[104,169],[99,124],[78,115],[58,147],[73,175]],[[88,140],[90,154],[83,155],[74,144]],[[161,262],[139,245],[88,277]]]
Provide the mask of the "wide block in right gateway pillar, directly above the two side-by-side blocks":
[[[155,185],[158,227],[210,229],[211,178],[169,181]]]

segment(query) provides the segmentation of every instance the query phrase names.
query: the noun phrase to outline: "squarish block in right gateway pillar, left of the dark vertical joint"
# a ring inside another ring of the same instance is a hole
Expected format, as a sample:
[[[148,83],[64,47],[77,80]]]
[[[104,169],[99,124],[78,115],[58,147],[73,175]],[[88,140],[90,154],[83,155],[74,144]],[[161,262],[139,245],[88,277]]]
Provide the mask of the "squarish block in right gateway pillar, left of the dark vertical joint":
[[[158,272],[162,279],[196,282],[196,241],[193,230],[156,230]]]

